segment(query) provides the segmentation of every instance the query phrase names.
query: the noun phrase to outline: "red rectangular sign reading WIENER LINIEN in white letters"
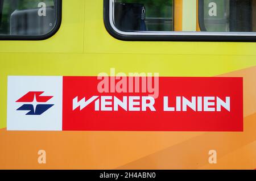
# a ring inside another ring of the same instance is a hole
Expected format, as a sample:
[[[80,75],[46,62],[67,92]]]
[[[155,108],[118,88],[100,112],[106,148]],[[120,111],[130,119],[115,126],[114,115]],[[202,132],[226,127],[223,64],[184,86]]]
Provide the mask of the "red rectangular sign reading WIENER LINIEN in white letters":
[[[63,131],[243,131],[242,78],[159,77],[154,96],[99,83],[63,77]]]

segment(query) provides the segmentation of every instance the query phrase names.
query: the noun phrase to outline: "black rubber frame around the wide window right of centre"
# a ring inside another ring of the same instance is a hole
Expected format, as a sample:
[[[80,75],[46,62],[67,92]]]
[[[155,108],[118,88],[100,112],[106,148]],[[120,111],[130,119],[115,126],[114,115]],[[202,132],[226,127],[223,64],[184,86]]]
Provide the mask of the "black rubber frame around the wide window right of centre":
[[[198,8],[198,19],[200,30],[205,30],[204,23],[202,24],[202,20],[204,18],[204,0],[199,1]],[[174,5],[174,4],[173,4]],[[124,35],[114,30],[110,23],[110,0],[104,0],[104,25],[106,31],[113,36],[115,39],[122,41],[225,41],[225,42],[255,42],[256,41],[256,33],[255,36],[247,36],[243,35],[244,32],[236,32],[236,34],[241,35],[232,35],[232,32],[220,33],[216,35],[216,32],[190,32],[191,34],[195,33],[195,35],[187,35],[186,32],[174,32],[179,33],[179,35]],[[202,11],[203,10],[203,11]],[[201,21],[201,23],[200,23]],[[204,21],[203,21],[204,22]],[[202,28],[202,29],[201,29]],[[210,35],[210,34],[214,35]],[[225,34],[225,35],[224,35]],[[231,35],[227,35],[231,34]],[[233,33],[234,34],[234,33]]]

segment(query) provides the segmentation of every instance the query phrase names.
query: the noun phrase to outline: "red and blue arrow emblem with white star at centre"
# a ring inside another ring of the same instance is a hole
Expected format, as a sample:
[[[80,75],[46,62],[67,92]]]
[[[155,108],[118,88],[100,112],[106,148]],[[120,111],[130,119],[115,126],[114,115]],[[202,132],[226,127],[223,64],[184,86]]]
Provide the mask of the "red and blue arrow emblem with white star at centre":
[[[17,103],[26,103],[20,106],[18,111],[29,111],[26,115],[42,115],[51,108],[54,104],[43,104],[48,102],[53,96],[42,96],[44,92],[27,92],[20,99],[16,100]]]

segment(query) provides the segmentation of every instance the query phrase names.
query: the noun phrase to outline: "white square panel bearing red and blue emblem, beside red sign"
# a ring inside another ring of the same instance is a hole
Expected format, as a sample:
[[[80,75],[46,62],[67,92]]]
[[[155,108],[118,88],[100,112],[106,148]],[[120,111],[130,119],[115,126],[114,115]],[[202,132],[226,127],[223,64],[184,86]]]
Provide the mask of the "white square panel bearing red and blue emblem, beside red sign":
[[[61,76],[9,76],[8,131],[61,131]]]

